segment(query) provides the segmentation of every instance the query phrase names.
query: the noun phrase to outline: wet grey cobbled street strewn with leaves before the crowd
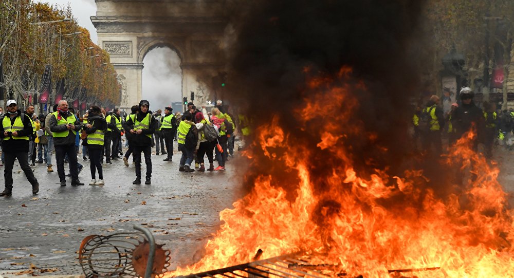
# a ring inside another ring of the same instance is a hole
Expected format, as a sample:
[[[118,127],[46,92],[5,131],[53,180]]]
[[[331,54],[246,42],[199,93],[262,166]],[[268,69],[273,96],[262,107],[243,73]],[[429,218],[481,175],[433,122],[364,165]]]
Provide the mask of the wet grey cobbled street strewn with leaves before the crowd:
[[[79,156],[85,186],[71,187],[68,178],[68,186],[60,187],[57,169],[47,173],[45,164],[36,164],[37,195],[15,164],[13,195],[0,198],[0,275],[14,277],[8,273],[30,267],[35,275],[82,274],[76,252],[85,236],[132,232],[134,224],[148,227],[157,243],[166,244],[172,267],[188,264],[219,226],[219,212],[242,194],[235,174],[241,173],[244,158],[230,159],[227,171],[183,173],[178,172],[178,152],[173,162],[152,155],[149,186],[133,185],[134,165],[126,168],[123,160],[114,160],[103,164],[106,184],[99,187],[87,185],[89,161]]]

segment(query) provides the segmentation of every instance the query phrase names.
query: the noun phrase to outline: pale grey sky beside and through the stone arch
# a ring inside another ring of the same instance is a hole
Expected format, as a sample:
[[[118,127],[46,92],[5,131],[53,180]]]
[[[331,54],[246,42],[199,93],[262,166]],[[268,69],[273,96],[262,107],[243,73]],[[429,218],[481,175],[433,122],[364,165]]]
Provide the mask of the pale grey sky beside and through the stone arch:
[[[98,43],[96,29],[90,19],[91,15],[96,15],[95,0],[34,1],[57,4],[62,7],[69,4],[79,25],[89,30],[91,41]],[[150,101],[151,110],[163,109],[164,104],[171,105],[171,102],[180,102],[182,72],[176,52],[169,48],[156,48],[145,56],[143,63],[143,98]]]

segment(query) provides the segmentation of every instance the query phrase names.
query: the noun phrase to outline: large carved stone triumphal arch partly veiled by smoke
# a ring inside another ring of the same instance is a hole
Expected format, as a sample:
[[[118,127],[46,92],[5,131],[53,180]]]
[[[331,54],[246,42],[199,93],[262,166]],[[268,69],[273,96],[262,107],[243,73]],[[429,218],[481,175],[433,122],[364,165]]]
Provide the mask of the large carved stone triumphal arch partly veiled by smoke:
[[[98,44],[111,55],[122,85],[120,107],[142,99],[143,58],[155,47],[170,47],[181,59],[182,97],[195,104],[209,99],[213,76],[223,68],[221,44],[227,21],[224,0],[95,0],[91,22]],[[203,96],[202,96],[203,95]],[[162,105],[170,105],[163,103]],[[161,105],[161,106],[162,106]]]

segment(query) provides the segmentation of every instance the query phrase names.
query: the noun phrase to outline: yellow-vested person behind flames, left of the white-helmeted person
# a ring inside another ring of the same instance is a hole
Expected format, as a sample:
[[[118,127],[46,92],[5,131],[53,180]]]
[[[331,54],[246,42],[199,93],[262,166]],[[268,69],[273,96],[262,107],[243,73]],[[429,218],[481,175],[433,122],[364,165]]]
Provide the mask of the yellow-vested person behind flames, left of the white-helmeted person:
[[[427,107],[423,109],[423,114],[428,114],[429,125],[428,131],[423,134],[421,142],[426,152],[431,152],[430,147],[434,146],[434,155],[439,156],[443,152],[443,143],[441,141],[441,131],[445,125],[443,109],[439,107],[439,97],[433,95],[427,103]]]

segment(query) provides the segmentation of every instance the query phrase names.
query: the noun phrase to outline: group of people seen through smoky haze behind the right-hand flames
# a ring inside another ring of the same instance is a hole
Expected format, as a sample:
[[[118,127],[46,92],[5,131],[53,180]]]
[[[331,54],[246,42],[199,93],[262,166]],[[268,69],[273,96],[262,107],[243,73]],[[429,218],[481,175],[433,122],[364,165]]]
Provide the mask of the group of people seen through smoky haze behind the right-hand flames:
[[[473,149],[480,149],[487,158],[492,158],[494,145],[512,150],[514,109],[497,109],[491,102],[481,106],[475,104],[474,92],[469,87],[460,90],[457,102],[446,113],[438,96],[431,96],[425,104],[419,103],[412,117],[416,151],[439,156],[444,145],[451,147],[470,131],[474,133]]]

